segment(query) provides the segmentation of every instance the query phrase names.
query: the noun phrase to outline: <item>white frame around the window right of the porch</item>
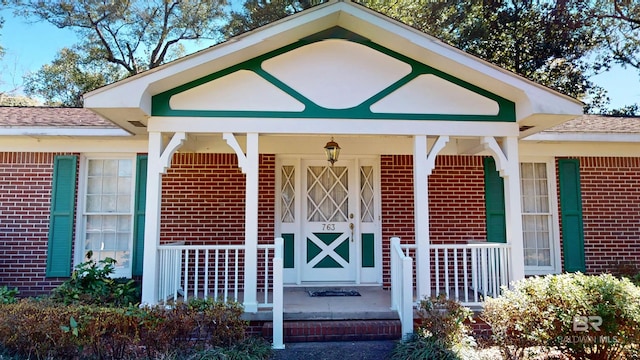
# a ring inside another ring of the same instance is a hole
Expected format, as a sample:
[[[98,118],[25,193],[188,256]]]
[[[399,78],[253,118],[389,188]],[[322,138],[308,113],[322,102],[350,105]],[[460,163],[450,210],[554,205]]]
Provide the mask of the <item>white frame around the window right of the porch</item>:
[[[557,185],[557,171],[556,162],[553,157],[521,157],[518,164],[518,179],[520,181],[520,201],[522,201],[523,189],[522,189],[522,177],[520,174],[520,165],[526,163],[544,163],[547,167],[547,191],[549,194],[549,212],[550,219],[550,250],[551,250],[551,265],[550,266],[531,266],[524,265],[524,272],[526,276],[532,275],[547,275],[558,274],[561,269],[561,249],[560,249],[560,227],[559,227],[559,215],[558,215],[558,185]],[[520,216],[525,215],[522,212],[522,206],[520,207]],[[524,224],[524,221],[522,222]],[[523,228],[523,251],[524,251],[524,228]]]

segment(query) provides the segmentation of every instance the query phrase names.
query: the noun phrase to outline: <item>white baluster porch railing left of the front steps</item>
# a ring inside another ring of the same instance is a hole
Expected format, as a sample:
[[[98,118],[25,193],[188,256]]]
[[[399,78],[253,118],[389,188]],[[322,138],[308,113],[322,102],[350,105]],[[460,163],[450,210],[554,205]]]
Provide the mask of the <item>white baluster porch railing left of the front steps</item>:
[[[158,246],[158,302],[192,297],[242,302],[244,245]],[[258,245],[258,307],[273,306],[271,259],[275,245]]]

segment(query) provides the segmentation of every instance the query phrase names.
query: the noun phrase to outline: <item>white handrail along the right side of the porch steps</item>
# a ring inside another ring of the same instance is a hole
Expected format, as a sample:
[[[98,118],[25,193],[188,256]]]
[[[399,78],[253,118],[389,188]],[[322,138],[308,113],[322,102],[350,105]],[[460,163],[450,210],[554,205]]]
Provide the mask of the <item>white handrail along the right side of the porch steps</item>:
[[[413,333],[413,259],[405,255],[400,238],[391,238],[391,309],[398,312],[402,336]]]

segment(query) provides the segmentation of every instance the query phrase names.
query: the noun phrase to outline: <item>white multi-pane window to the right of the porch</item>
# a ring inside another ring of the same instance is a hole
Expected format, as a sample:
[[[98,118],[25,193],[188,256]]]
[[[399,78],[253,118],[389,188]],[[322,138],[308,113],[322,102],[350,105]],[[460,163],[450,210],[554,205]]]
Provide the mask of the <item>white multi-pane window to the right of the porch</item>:
[[[528,275],[557,272],[559,266],[554,173],[553,162],[520,163],[524,265]]]

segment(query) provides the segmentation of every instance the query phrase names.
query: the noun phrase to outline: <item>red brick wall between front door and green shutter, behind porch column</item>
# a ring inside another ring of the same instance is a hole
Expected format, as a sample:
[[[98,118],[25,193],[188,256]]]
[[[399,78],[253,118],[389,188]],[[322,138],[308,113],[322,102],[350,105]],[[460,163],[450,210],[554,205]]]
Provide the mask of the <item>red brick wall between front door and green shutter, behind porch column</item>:
[[[382,156],[380,182],[383,283],[389,286],[389,239],[398,236],[403,243],[415,242],[412,156]],[[436,167],[429,176],[429,216],[432,243],[486,239],[482,157],[436,158]]]

